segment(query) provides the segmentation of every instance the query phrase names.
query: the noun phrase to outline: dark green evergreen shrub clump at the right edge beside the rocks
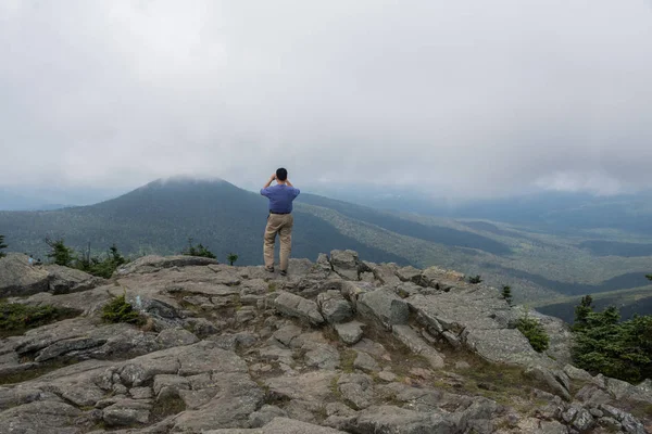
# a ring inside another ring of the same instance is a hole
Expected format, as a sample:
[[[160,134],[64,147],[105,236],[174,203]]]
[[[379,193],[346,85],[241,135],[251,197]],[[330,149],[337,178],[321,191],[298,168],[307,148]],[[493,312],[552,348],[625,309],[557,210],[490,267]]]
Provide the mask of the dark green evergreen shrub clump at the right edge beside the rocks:
[[[590,302],[584,297],[575,309],[575,365],[629,382],[652,378],[652,316],[620,322],[615,306],[595,312]]]

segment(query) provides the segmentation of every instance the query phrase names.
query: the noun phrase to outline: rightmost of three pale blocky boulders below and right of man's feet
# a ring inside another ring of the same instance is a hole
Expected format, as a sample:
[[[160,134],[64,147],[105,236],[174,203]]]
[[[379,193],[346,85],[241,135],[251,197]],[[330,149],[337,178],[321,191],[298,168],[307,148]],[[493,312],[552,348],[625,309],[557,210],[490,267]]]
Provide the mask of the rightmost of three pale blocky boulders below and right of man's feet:
[[[406,324],[410,317],[408,304],[388,289],[361,294],[358,297],[358,311],[378,320],[388,330],[394,324]]]

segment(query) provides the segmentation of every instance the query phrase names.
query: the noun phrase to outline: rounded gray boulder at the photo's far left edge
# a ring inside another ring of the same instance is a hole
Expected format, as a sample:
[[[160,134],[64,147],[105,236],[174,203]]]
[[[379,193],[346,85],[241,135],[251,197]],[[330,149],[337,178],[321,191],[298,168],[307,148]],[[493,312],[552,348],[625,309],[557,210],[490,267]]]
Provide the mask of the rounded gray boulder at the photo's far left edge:
[[[49,276],[43,267],[30,266],[28,256],[10,253],[0,258],[0,297],[47,292]]]

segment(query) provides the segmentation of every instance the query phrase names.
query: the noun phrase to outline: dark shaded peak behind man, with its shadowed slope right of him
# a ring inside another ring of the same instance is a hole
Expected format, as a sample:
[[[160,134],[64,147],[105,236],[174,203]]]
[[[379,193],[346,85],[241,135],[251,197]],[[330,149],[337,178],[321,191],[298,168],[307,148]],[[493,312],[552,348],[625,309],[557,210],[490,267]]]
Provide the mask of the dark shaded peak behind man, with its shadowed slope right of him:
[[[0,233],[12,250],[43,256],[46,237],[63,238],[77,251],[105,250],[116,243],[127,254],[178,253],[188,239],[208,245],[223,260],[230,252],[238,263],[260,264],[266,200],[223,180],[158,180],[120,197],[91,206],[51,212],[0,213]],[[293,256],[316,258],[339,245],[373,260],[408,264],[342,235],[328,222],[297,210]]]

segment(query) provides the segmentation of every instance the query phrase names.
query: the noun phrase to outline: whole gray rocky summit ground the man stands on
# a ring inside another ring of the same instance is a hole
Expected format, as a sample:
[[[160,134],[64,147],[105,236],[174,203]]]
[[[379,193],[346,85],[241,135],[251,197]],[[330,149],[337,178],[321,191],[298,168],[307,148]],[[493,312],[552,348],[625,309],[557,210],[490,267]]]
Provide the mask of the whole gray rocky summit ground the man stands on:
[[[126,298],[145,326],[109,324]],[[524,309],[460,273],[292,259],[289,276],[148,256],[105,281],[0,259],[10,303],[77,309],[0,340],[0,433],[649,433],[652,382],[536,353]]]

